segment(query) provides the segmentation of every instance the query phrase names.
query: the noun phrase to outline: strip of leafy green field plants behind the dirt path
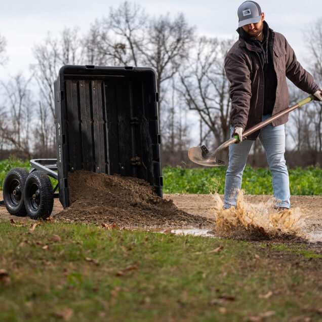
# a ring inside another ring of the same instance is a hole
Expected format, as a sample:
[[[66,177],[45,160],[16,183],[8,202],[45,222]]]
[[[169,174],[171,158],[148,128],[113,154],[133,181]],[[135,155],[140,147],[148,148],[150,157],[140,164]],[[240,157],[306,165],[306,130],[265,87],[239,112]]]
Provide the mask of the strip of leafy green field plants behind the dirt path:
[[[9,158],[0,161],[0,189],[8,171],[15,167],[30,170],[29,161]],[[224,193],[227,167],[188,169],[165,167],[164,193]],[[322,169],[289,169],[292,195],[322,195]],[[53,185],[57,181],[52,179]],[[247,166],[244,171],[242,189],[246,194],[273,194],[272,179],[269,169],[253,169]]]

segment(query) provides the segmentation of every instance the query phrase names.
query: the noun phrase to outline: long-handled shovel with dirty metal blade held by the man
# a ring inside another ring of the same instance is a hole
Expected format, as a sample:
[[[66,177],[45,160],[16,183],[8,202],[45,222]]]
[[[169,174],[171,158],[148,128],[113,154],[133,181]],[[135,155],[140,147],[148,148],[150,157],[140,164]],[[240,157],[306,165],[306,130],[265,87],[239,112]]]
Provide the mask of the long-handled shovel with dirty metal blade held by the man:
[[[278,112],[277,114],[265,119],[264,121],[258,123],[257,125],[254,125],[252,128],[248,129],[247,131],[243,132],[243,139],[246,139],[248,135],[262,129],[266,125],[272,123],[275,119],[277,119],[280,116],[283,116],[287,113],[290,113],[294,109],[301,107],[302,105],[315,100],[315,97],[313,95],[305,98],[304,100],[296,103],[295,105],[292,105],[288,108],[286,108],[283,111]],[[226,163],[224,160],[217,159],[217,155],[220,151],[228,147],[230,144],[238,142],[239,138],[238,135],[235,135],[228,141],[221,144],[214,152],[209,152],[205,145],[202,146],[196,146],[192,147],[188,151],[188,157],[189,159],[201,166],[207,166],[207,167],[218,167],[218,166],[224,166]]]

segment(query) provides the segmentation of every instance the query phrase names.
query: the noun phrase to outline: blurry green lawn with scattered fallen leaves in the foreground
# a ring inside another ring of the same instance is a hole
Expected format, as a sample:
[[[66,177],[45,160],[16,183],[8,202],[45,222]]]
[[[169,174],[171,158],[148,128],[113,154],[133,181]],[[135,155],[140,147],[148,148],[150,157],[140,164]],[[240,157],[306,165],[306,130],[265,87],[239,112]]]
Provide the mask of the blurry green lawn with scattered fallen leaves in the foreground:
[[[0,269],[9,274],[0,274],[0,320],[68,311],[71,321],[246,321],[267,311],[273,320],[318,320],[321,256],[307,261],[306,246],[81,224],[29,228],[0,222]]]

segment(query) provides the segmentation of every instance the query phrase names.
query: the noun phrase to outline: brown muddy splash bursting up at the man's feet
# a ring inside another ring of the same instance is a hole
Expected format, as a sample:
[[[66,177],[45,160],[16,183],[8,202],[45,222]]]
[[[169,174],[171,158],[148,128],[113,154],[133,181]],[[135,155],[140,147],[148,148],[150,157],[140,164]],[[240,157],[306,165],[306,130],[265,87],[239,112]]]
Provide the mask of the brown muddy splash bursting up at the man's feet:
[[[261,240],[303,238],[304,214],[299,208],[274,211],[274,198],[266,203],[246,202],[243,191],[238,193],[236,208],[223,210],[219,195],[216,201],[216,234],[223,237]]]

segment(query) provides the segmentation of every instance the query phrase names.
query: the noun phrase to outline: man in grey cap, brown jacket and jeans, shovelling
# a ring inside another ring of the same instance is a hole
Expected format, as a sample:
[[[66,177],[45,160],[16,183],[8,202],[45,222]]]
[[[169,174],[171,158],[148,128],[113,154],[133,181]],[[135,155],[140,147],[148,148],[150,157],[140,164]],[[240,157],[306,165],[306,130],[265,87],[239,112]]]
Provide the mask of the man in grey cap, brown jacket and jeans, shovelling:
[[[259,137],[272,174],[274,208],[289,209],[290,184],[284,158],[288,114],[247,140],[243,140],[243,132],[289,106],[286,77],[317,100],[322,101],[322,91],[297,61],[286,38],[268,27],[256,2],[244,2],[237,14],[239,39],[225,57],[225,71],[231,83],[231,135],[238,135],[240,144],[229,146],[224,208],[236,205],[249,151]]]

